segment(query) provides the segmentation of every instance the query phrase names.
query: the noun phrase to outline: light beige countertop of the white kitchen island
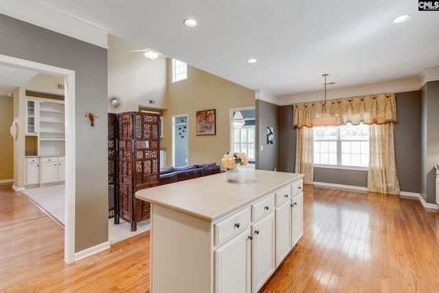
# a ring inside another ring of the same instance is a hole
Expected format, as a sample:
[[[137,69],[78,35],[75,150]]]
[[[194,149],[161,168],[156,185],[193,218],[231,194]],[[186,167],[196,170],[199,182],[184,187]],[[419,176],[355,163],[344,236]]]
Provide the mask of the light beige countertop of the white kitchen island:
[[[136,198],[215,222],[303,177],[302,174],[243,169],[244,179],[230,183],[225,173],[160,185],[136,192]]]

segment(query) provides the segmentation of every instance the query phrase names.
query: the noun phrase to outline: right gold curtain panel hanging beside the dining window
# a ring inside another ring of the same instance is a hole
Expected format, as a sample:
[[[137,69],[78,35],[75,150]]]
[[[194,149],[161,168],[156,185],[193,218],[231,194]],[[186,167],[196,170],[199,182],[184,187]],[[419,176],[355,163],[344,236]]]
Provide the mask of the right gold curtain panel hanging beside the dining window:
[[[369,126],[368,191],[399,194],[393,123]]]

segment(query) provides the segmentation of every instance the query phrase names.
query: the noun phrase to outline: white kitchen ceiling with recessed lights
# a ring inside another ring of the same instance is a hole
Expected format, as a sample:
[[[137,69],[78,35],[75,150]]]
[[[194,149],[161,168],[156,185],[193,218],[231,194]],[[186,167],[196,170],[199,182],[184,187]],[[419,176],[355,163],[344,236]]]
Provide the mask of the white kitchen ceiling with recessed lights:
[[[277,99],[322,93],[323,73],[340,91],[439,66],[439,11],[418,11],[414,0],[34,2]],[[392,22],[402,14],[412,17]],[[198,26],[185,27],[187,18]]]

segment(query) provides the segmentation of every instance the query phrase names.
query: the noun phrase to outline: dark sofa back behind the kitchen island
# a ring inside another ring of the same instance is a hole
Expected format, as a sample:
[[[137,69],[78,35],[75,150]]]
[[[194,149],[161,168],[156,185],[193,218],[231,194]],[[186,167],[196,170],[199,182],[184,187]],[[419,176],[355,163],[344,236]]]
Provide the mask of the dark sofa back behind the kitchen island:
[[[160,169],[160,185],[208,176],[220,172],[222,172],[221,168],[216,163],[190,165],[185,167],[166,167]]]

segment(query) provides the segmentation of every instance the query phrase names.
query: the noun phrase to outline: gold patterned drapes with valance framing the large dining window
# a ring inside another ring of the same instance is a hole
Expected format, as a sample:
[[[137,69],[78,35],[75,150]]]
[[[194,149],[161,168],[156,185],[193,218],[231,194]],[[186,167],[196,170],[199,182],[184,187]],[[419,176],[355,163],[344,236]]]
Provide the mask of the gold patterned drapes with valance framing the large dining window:
[[[324,113],[324,101],[293,104],[293,127],[298,128],[296,172],[304,174],[304,183],[313,183],[312,119]],[[393,93],[362,95],[327,100],[326,112],[339,117],[340,125],[361,122],[370,125],[368,190],[399,194],[394,159],[393,124],[396,97]]]

